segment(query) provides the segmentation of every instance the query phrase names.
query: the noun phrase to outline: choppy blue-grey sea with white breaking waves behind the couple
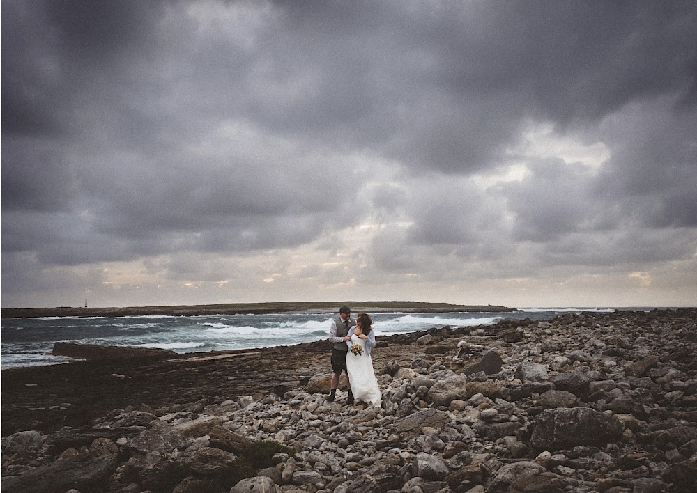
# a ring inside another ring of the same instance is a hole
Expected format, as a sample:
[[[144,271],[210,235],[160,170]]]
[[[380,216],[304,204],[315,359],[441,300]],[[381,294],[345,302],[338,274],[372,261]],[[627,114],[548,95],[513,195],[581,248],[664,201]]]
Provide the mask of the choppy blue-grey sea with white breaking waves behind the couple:
[[[473,327],[499,320],[549,320],[564,312],[612,308],[525,308],[516,312],[375,313],[376,336],[424,331],[431,327]],[[201,315],[194,317],[5,318],[0,329],[0,367],[21,368],[75,361],[52,356],[54,343],[160,347],[178,353],[254,349],[319,341],[328,337],[330,313]]]

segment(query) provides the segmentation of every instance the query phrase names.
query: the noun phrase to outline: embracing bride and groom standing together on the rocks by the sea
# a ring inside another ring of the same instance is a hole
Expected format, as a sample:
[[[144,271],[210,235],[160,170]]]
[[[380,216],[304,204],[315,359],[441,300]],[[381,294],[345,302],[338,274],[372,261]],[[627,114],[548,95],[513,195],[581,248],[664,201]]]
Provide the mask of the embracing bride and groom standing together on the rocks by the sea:
[[[332,389],[329,397],[333,401],[339,387],[342,371],[346,371],[351,389],[348,391],[348,404],[362,401],[381,407],[382,394],[373,370],[370,352],[375,347],[373,320],[367,313],[359,313],[351,318],[348,306],[342,306],[339,316],[332,322],[329,340],[332,345]]]

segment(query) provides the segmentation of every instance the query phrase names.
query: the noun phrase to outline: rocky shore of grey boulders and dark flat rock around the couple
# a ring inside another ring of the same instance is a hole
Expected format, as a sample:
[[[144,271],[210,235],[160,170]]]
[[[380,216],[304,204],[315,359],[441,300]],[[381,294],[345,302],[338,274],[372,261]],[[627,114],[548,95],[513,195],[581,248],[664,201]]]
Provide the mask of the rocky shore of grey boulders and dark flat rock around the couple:
[[[697,491],[697,309],[378,338],[381,408],[328,343],[2,372],[12,492]]]

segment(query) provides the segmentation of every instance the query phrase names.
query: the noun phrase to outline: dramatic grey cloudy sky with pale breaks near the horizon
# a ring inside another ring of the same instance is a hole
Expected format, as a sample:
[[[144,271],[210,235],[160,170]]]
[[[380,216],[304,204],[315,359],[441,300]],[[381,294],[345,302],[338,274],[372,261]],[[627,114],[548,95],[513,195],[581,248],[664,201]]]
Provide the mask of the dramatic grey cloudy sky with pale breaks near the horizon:
[[[3,307],[697,306],[693,1],[1,6]]]

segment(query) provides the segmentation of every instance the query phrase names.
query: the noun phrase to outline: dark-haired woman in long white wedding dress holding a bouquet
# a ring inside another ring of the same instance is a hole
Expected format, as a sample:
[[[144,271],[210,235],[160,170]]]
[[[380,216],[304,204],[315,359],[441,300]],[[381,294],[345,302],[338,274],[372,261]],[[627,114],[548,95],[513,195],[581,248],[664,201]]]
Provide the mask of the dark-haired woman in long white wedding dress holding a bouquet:
[[[373,319],[367,313],[359,313],[355,323],[355,327],[348,333],[351,341],[346,343],[346,370],[351,392],[356,401],[362,400],[381,407],[382,394],[378,389],[378,379],[375,377],[373,360],[370,357],[370,351],[375,347],[375,334],[371,327]]]

